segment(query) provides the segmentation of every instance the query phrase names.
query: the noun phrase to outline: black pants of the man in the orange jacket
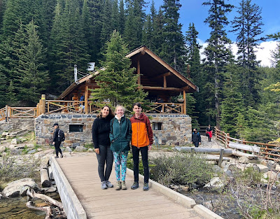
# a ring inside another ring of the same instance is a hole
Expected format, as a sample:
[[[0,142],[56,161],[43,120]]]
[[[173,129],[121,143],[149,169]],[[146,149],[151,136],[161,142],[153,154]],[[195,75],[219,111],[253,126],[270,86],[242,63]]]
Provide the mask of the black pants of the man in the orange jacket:
[[[144,183],[148,183],[148,146],[141,147],[139,149],[135,146],[132,146],[134,182],[139,182],[139,151],[141,151],[142,163],[144,167]]]

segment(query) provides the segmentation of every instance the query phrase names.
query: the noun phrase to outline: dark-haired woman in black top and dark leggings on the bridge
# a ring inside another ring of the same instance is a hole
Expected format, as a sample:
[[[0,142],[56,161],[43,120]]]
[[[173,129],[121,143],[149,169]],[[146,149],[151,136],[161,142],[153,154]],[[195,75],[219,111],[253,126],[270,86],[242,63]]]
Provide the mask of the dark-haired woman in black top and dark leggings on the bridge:
[[[111,141],[109,138],[112,118],[114,118],[114,114],[111,108],[109,106],[103,106],[92,125],[92,141],[97,155],[98,174],[101,180],[102,190],[113,187],[109,181],[113,167],[113,153],[110,149]]]

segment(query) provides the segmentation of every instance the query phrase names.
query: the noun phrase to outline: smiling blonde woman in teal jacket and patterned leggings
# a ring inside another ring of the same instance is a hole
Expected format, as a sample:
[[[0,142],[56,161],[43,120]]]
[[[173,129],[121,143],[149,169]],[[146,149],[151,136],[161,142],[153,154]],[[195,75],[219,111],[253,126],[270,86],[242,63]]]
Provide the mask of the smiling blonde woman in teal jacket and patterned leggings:
[[[126,190],[125,176],[127,173],[127,155],[130,150],[130,141],[132,136],[132,126],[128,118],[125,117],[125,108],[123,106],[117,106],[115,118],[111,120],[111,150],[113,151],[113,157],[115,160],[115,172],[117,179],[116,190]],[[120,182],[120,165],[121,179]]]

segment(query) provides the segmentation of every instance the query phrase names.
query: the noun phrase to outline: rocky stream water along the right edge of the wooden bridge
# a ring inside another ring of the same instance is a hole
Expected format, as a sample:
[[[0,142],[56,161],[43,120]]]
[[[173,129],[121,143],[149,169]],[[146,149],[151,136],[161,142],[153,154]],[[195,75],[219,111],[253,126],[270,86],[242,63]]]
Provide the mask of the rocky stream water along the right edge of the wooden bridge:
[[[200,188],[194,192],[181,192],[181,194],[186,195],[195,200],[197,204],[209,204],[211,205],[211,201],[214,202],[213,206],[214,211],[218,216],[221,216],[225,219],[241,219],[242,217],[237,212],[237,206],[232,203],[229,195],[221,195],[218,192],[209,191],[203,188]]]

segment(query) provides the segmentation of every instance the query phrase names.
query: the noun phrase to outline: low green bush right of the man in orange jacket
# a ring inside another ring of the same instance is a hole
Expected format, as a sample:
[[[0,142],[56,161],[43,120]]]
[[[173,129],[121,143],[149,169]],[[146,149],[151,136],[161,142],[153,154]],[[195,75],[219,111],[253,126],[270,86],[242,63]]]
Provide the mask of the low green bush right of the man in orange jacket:
[[[176,153],[172,157],[160,155],[151,159],[151,178],[162,185],[204,185],[210,181],[214,172],[203,155],[194,153]]]

